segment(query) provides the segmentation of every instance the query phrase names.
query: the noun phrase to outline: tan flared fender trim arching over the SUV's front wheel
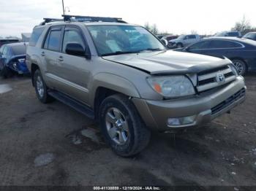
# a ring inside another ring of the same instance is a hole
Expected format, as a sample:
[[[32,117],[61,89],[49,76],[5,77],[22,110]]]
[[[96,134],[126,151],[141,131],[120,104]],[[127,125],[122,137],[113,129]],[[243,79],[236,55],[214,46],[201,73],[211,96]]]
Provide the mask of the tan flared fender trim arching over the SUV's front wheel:
[[[89,83],[89,104],[94,105],[94,98],[99,87],[105,87],[110,90],[114,90],[118,93],[123,93],[124,95],[140,98],[140,93],[138,92],[135,85],[132,84],[128,79],[120,77],[116,74],[110,73],[98,73],[94,75],[92,82]]]

